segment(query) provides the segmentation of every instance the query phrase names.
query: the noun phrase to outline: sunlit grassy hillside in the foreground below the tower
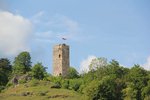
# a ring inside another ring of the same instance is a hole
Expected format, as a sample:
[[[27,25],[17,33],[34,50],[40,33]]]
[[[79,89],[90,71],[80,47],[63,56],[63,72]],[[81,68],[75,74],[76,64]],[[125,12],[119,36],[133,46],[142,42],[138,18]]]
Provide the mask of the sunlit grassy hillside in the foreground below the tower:
[[[11,86],[0,93],[0,100],[86,100],[87,97],[67,89],[51,88],[48,81],[30,81]]]

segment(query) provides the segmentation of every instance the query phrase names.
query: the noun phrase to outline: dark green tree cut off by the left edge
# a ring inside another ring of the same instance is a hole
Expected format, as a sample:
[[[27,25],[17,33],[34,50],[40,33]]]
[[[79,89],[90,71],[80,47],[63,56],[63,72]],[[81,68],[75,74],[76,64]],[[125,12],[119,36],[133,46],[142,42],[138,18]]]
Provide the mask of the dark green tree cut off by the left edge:
[[[12,72],[12,66],[7,58],[0,59],[0,85],[5,86]]]

